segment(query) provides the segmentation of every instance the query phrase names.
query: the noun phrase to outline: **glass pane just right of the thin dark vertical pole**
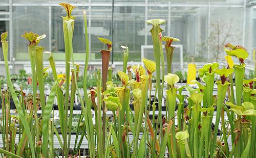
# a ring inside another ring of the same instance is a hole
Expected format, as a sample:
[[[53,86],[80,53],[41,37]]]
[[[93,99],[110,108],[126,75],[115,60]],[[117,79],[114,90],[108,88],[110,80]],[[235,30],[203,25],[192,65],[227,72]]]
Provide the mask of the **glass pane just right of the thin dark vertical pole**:
[[[144,28],[145,7],[114,8],[114,61],[123,61],[121,45],[129,47],[129,61],[141,61]]]

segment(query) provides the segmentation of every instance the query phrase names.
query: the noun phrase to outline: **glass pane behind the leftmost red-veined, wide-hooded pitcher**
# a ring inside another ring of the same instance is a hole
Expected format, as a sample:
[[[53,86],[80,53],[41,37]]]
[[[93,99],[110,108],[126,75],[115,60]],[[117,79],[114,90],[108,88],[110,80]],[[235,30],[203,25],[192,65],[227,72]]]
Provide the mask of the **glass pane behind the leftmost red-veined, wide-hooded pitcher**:
[[[28,60],[26,41],[20,37],[25,32],[46,34],[38,46],[49,50],[49,7],[13,7],[13,52],[16,60]]]

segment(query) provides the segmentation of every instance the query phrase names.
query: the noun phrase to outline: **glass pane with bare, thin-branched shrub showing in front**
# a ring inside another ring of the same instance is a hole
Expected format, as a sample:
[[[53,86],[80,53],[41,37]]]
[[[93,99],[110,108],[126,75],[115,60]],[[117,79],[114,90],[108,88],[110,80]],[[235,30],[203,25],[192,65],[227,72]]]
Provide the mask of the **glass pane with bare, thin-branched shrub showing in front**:
[[[225,14],[225,17],[223,15]],[[209,59],[221,61],[226,43],[243,44],[243,8],[211,8],[209,24]],[[237,60],[236,60],[237,61]]]

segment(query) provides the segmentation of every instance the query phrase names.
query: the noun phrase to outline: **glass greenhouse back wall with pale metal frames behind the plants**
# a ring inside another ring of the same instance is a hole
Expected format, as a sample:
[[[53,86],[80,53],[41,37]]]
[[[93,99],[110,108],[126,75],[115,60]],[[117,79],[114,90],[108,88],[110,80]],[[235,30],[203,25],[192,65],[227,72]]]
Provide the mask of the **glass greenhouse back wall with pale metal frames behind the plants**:
[[[4,0],[0,2],[0,32],[10,33],[9,61],[13,65],[28,61],[24,39],[25,31],[46,34],[42,45],[53,52],[57,61],[64,61],[63,33],[58,18],[65,11],[58,6],[61,1]],[[69,2],[69,1],[68,1]],[[146,19],[162,18],[163,34],[177,37],[183,46],[183,61],[214,62],[223,59],[222,46],[227,41],[245,45],[249,54],[255,45],[256,8],[252,1],[70,1],[77,6],[74,32],[75,58],[83,61],[85,39],[82,9],[88,12],[90,61],[99,62],[102,48],[97,37],[113,40],[112,64],[122,61],[122,48],[130,49],[132,62],[141,62],[141,45],[152,45],[150,25]],[[50,35],[50,36],[49,36]],[[2,49],[0,49],[2,51]],[[249,56],[252,61],[252,56]],[[3,55],[0,54],[3,61]],[[46,58],[45,58],[46,60]],[[179,59],[174,59],[179,62]],[[3,67],[3,62],[0,62]],[[22,66],[22,65],[21,65]],[[22,68],[14,66],[16,68]]]

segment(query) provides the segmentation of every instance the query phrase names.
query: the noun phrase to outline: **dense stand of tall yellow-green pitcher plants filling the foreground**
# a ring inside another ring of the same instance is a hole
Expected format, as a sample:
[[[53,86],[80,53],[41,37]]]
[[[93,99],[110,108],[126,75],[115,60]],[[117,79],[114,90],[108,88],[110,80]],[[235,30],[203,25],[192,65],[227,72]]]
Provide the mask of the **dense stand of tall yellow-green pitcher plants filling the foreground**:
[[[1,34],[7,78],[7,86],[0,83],[1,157],[78,157],[82,144],[88,144],[84,154],[90,157],[256,157],[256,78],[244,78],[248,52],[243,46],[224,45],[226,54],[237,58],[238,64],[224,64],[219,69],[219,63],[207,63],[198,69],[199,80],[191,81],[193,86],[181,85],[179,76],[172,73],[172,42],[179,39],[162,35],[160,24],[165,20],[147,20],[152,24],[154,59],[143,58],[143,65],[129,65],[129,45],[121,46],[123,63],[117,70],[109,65],[112,41],[99,37],[99,44],[105,47],[100,50],[102,67],[93,74],[96,87],[87,87],[90,45],[86,11],[82,12],[86,39],[83,67],[74,61],[72,10],[76,7],[60,6],[67,13],[62,17],[65,74],[57,71],[55,54],[45,54],[45,48],[39,46],[46,35],[22,35],[29,41],[31,94],[12,83],[8,33]],[[45,56],[49,56],[50,68],[44,66]],[[53,76],[48,93],[47,73]],[[80,77],[82,88],[78,87]],[[10,109],[11,98],[17,114]],[[75,100],[81,106],[78,120],[73,116]],[[55,103],[58,111],[53,111]]]

